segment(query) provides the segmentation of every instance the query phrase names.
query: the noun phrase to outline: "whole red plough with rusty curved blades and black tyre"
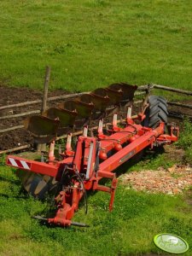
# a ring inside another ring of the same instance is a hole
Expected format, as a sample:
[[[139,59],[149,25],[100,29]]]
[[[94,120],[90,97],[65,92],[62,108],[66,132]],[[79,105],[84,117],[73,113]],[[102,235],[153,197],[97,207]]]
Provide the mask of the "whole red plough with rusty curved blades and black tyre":
[[[55,192],[55,216],[46,219],[60,226],[79,225],[72,221],[79,201],[88,190],[110,195],[109,211],[113,209],[117,178],[115,169],[131,160],[144,148],[153,148],[177,141],[178,128],[167,124],[167,104],[161,96],[148,96],[140,113],[131,116],[136,85],[111,84],[74,100],[49,108],[43,115],[25,121],[35,143],[49,143],[49,152],[41,160],[26,160],[8,155],[7,165],[18,169],[24,188],[38,198]],[[112,117],[112,123],[103,125]],[[98,127],[96,126],[98,121]],[[88,126],[89,125],[89,126]],[[82,130],[76,145],[73,132]],[[168,132],[166,132],[168,131]],[[55,139],[67,134],[67,143],[55,154]],[[111,186],[100,183],[111,180]]]

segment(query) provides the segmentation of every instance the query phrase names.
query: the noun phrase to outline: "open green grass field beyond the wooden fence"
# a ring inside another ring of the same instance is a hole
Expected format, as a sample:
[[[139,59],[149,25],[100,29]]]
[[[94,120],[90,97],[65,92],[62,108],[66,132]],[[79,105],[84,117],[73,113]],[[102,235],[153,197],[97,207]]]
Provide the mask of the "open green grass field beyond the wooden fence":
[[[0,81],[93,90],[114,81],[192,88],[192,2],[0,2]]]

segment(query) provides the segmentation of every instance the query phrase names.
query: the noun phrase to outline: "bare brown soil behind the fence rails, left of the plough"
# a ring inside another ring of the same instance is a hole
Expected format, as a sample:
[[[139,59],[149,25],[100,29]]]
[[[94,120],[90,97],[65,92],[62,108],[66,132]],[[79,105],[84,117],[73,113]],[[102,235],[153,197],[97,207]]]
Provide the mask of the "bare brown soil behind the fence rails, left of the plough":
[[[65,90],[55,90],[49,92],[49,96],[61,96],[68,94]],[[7,106],[20,102],[34,101],[42,98],[42,92],[40,90],[31,90],[28,88],[15,88],[0,85],[0,107]],[[56,105],[57,102],[49,103]],[[34,104],[32,106],[20,107],[20,108],[9,108],[6,111],[0,110],[0,116],[25,113],[32,110],[39,110],[41,108],[40,104]],[[15,125],[23,125],[23,118],[17,119],[5,119],[0,120],[0,130],[6,129]],[[32,144],[32,136],[25,129],[18,129],[15,131],[9,131],[6,133],[0,133],[0,150],[16,148],[26,144]]]

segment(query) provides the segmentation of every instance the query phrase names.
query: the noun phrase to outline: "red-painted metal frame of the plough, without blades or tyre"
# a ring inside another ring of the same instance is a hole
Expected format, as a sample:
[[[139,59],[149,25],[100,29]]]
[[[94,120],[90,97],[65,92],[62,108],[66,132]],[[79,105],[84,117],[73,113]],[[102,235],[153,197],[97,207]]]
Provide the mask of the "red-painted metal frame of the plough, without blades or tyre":
[[[141,115],[139,118],[143,119]],[[164,123],[160,123],[156,129],[151,129],[135,124],[132,119],[127,119],[125,128],[119,128],[116,123],[116,117],[114,117],[110,136],[103,135],[102,129],[99,130],[98,137],[80,136],[74,156],[71,155],[73,150],[69,137],[67,150],[62,154],[63,160],[61,161],[55,160],[53,154],[54,143],[52,143],[49,151],[49,163],[25,160],[9,155],[7,165],[15,166],[28,172],[37,172],[56,177],[58,181],[61,181],[62,174],[67,170],[72,177],[71,183],[55,197],[57,212],[55,213],[55,218],[49,218],[48,221],[52,224],[69,226],[72,224],[71,219],[74,212],[79,208],[79,201],[84,195],[84,189],[108,192],[110,194],[109,210],[111,211],[118,182],[113,171],[125,161],[130,160],[143,148],[148,146],[153,148],[154,143],[172,143],[177,140],[177,127],[171,127],[170,135],[164,134],[164,131]],[[96,149],[98,143],[100,143],[99,154]],[[70,154],[67,154],[67,152],[70,152]],[[98,163],[98,156],[102,160],[101,163]],[[26,168],[23,166],[26,166]],[[30,170],[28,170],[27,166],[30,167]],[[110,187],[99,184],[103,177],[111,180]]]

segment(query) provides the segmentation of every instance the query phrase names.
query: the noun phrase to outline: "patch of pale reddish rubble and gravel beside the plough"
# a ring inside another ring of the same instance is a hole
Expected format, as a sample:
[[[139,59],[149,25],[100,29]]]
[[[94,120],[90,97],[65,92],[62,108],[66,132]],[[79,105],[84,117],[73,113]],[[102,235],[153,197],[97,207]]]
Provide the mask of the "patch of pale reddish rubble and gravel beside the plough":
[[[127,189],[177,195],[192,186],[192,167],[174,165],[167,170],[160,167],[157,171],[131,172],[121,180]]]

